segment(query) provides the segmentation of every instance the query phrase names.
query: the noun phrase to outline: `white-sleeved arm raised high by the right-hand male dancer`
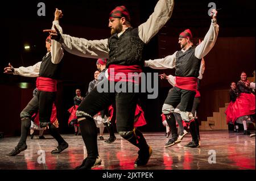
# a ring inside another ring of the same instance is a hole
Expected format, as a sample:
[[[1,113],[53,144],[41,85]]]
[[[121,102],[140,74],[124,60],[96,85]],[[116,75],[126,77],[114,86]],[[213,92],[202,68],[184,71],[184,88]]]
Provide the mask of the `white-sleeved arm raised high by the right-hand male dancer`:
[[[204,40],[197,45],[195,49],[195,56],[199,59],[203,58],[206,56],[210,50],[213,48],[214,44],[216,43],[217,36],[218,36],[218,29],[219,26],[217,24],[217,11],[212,10],[212,23],[210,24],[210,29],[207,32],[207,34],[204,37]]]

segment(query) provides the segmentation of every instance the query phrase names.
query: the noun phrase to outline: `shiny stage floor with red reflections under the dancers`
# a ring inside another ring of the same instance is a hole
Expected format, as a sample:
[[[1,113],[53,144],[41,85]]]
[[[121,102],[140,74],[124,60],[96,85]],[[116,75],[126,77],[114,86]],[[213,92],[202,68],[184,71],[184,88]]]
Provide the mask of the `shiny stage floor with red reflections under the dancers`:
[[[113,144],[104,144],[98,140],[98,150],[102,159],[100,170],[230,170],[255,169],[255,137],[228,131],[201,131],[201,148],[183,147],[191,140],[190,134],[184,137],[180,144],[164,148],[169,138],[163,132],[144,133],[153,152],[148,164],[134,168],[138,149],[117,133]],[[54,170],[74,169],[86,157],[86,149],[81,136],[63,134],[69,148],[61,154],[51,154],[57,142],[46,135],[46,140],[34,140],[27,137],[27,150],[7,157],[18,143],[19,137],[0,139],[0,169],[11,170]],[[105,140],[108,134],[104,135]],[[44,159],[45,155],[45,159]],[[214,157],[214,155],[216,157]],[[45,161],[45,162],[44,162]],[[216,161],[216,162],[214,162]]]

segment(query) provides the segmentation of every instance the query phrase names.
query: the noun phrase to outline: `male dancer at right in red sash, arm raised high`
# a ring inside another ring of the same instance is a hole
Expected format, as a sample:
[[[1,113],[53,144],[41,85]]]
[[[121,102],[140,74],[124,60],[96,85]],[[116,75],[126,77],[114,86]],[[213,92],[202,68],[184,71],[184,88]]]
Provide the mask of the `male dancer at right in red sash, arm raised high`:
[[[192,119],[193,100],[196,95],[197,77],[201,59],[213,48],[218,35],[218,24],[216,20],[217,11],[212,10],[212,23],[210,29],[205,35],[204,40],[193,47],[192,33],[189,29],[181,32],[179,35],[180,51],[165,58],[145,61],[146,66],[153,69],[176,68],[175,77],[176,85],[169,91],[168,96],[163,104],[162,112],[166,115],[168,125],[171,127],[172,138],[167,142],[165,147],[179,143],[175,113],[180,113],[182,120],[189,122],[189,128],[192,141],[189,147],[199,147],[199,140],[196,133],[195,120]],[[179,104],[179,107],[177,107]]]

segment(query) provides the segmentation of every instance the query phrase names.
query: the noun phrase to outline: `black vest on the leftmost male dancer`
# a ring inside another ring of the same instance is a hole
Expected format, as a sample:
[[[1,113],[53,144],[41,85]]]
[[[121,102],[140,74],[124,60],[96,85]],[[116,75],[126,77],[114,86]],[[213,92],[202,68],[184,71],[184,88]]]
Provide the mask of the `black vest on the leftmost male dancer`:
[[[52,79],[57,79],[59,75],[60,64],[53,64],[52,55],[49,53],[47,56],[43,57],[42,64],[39,70],[39,77],[47,77]]]

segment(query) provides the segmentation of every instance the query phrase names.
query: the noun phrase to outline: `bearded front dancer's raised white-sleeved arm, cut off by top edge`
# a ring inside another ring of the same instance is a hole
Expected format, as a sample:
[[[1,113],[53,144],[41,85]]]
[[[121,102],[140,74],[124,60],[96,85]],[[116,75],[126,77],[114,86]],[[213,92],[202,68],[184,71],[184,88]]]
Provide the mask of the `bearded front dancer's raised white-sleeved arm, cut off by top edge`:
[[[150,39],[166,24],[171,18],[174,9],[174,0],[159,0],[156,3],[154,12],[147,21],[138,27],[139,37],[144,43]]]

